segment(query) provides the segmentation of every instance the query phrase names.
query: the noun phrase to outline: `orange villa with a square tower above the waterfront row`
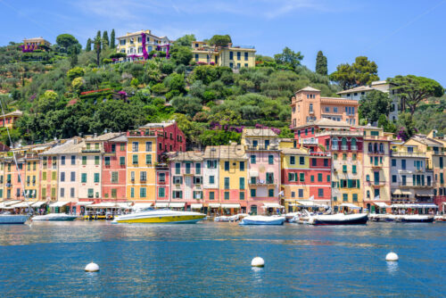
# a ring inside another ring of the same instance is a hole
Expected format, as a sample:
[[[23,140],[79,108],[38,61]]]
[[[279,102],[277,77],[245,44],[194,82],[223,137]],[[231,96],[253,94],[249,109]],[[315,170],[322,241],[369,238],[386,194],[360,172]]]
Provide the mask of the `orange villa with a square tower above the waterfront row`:
[[[341,97],[321,97],[320,90],[304,87],[291,99],[292,128],[300,127],[322,118],[358,124],[359,102]]]

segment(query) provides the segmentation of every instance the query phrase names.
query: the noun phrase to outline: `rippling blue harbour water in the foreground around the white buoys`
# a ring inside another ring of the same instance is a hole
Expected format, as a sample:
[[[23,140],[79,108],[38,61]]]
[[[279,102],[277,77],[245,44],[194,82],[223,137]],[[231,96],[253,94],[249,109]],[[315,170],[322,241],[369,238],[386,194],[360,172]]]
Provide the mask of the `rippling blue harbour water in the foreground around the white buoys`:
[[[387,252],[400,261],[384,261]],[[252,269],[261,256],[266,266]],[[95,261],[100,272],[87,273]],[[442,297],[446,223],[0,227],[2,297]]]

